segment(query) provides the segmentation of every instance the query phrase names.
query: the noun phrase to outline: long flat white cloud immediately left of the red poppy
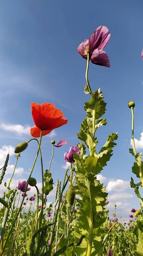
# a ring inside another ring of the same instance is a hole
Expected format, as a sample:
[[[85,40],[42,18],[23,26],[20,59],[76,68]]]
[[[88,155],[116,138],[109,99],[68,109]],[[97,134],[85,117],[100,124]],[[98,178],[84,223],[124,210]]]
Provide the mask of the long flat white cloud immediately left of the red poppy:
[[[30,125],[22,126],[21,124],[4,124],[4,123],[1,123],[0,127],[4,131],[15,132],[18,135],[22,135],[22,134],[30,135],[30,129],[31,129]]]

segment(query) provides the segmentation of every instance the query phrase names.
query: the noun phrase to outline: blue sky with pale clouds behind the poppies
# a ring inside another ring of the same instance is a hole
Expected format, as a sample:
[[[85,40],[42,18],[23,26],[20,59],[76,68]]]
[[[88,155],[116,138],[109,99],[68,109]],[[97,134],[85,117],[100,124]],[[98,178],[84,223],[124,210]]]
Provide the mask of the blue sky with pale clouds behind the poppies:
[[[48,168],[51,157],[50,140],[68,140],[68,145],[55,149],[51,166],[55,182],[56,179],[63,179],[65,169],[61,166],[65,165],[64,152],[78,142],[77,131],[85,115],[84,102],[89,100],[89,96],[84,94],[86,60],[78,54],[77,47],[100,25],[109,28],[111,39],[105,51],[111,67],[90,63],[89,82],[93,91],[101,88],[107,102],[105,118],[108,124],[97,132],[99,148],[110,133],[118,132],[114,155],[101,174],[105,184],[110,182],[109,208],[113,211],[116,202],[119,214],[125,217],[128,215],[124,215],[125,207],[128,211],[132,207],[139,207],[134,192],[126,182],[133,176],[131,166],[134,161],[128,152],[131,147],[131,112],[127,103],[134,100],[136,104],[135,137],[141,151],[142,8],[142,1],[133,0],[130,3],[94,0],[88,4],[85,0],[13,0],[0,3],[1,159],[4,160],[6,151],[10,149],[2,149],[4,145],[11,146],[12,152],[12,147],[30,138],[25,130],[26,125],[34,125],[30,103],[53,102],[68,119],[68,124],[56,129],[55,135],[43,137],[41,149],[44,168]],[[17,124],[23,128],[12,126],[13,132],[8,130],[10,125]],[[19,159],[18,167],[23,168],[23,171],[21,174],[19,171],[19,176],[17,172],[16,180],[27,179],[35,154],[35,142],[31,142]],[[12,153],[9,164],[15,164]],[[33,176],[41,182],[39,161]]]

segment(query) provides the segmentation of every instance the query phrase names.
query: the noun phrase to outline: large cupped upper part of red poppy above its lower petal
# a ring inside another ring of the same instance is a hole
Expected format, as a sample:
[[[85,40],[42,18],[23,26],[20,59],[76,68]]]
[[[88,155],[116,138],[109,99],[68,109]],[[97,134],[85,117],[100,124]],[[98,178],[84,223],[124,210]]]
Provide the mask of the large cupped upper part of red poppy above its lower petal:
[[[31,103],[31,111],[36,127],[42,131],[48,132],[64,124],[67,124],[68,121],[65,117],[63,117],[63,112],[58,108],[55,108],[53,103],[45,102],[41,105],[37,103]]]

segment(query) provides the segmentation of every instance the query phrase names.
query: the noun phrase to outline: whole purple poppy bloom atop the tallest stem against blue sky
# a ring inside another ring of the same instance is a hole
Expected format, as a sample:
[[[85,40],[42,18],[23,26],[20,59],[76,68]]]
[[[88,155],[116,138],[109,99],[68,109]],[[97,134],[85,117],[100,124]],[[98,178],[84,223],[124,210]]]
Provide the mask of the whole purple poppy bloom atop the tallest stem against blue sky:
[[[79,54],[87,60],[87,52],[89,60],[92,63],[100,66],[110,67],[109,58],[103,48],[110,39],[111,34],[105,26],[100,26],[95,29],[94,33],[88,39],[85,39],[78,47]]]

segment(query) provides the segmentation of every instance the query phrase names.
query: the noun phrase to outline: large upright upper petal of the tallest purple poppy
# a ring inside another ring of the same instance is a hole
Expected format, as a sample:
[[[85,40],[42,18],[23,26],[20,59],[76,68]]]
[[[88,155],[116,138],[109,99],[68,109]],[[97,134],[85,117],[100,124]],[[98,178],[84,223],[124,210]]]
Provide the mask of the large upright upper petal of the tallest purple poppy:
[[[103,49],[110,39],[110,32],[107,27],[100,26],[95,29],[89,38],[89,52],[93,52],[96,48]]]

